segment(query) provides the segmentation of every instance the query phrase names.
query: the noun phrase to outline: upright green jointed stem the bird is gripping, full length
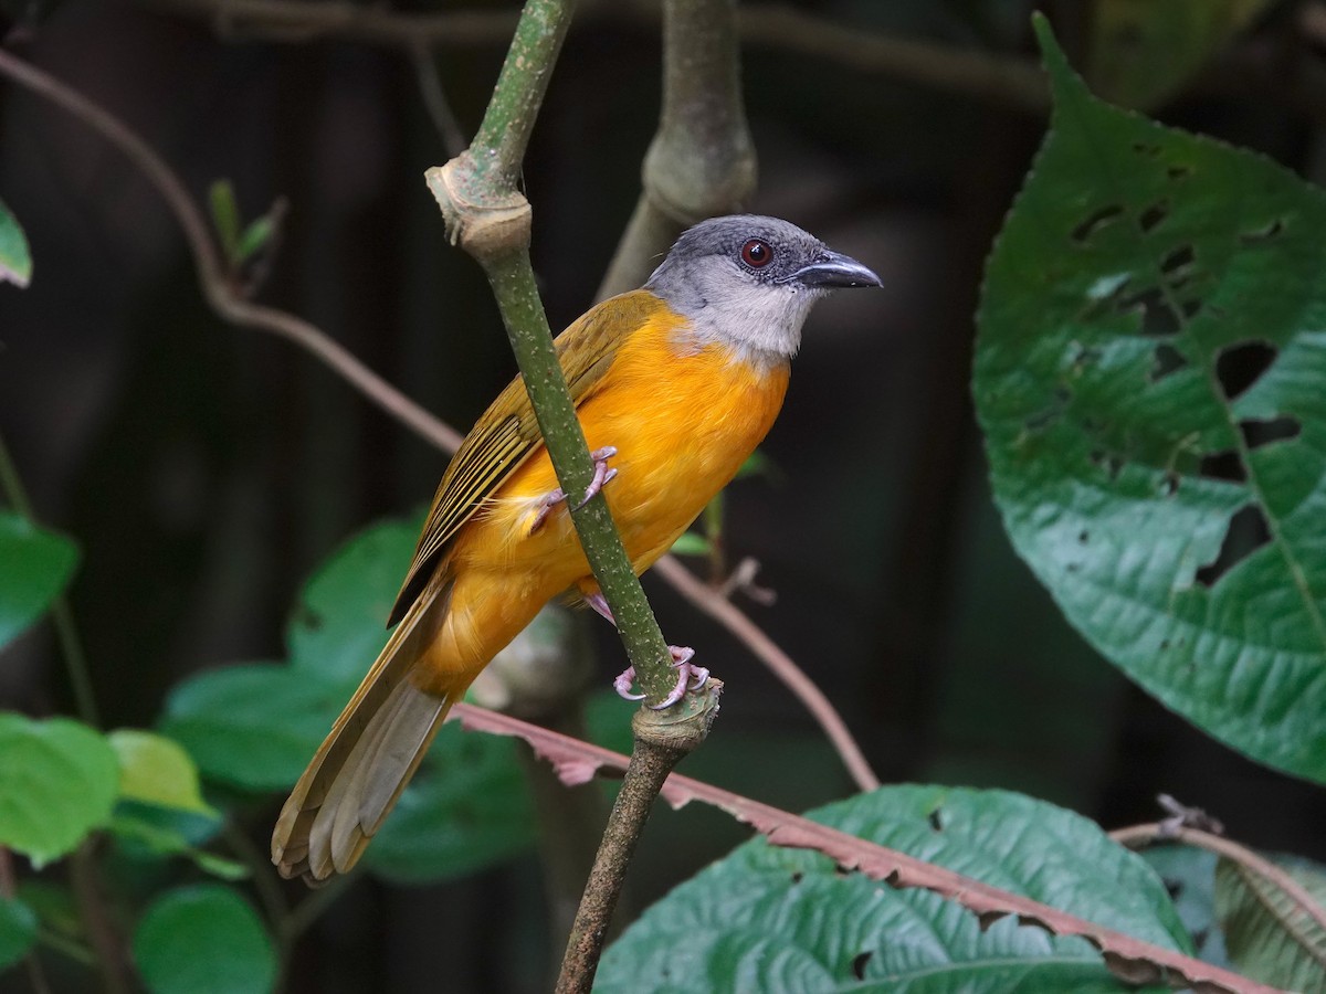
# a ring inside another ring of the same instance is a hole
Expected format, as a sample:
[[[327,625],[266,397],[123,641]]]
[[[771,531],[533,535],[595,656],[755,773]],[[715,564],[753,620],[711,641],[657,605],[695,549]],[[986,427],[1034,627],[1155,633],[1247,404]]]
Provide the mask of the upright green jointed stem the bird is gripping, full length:
[[[534,285],[530,209],[517,188],[572,5],[572,0],[528,0],[479,134],[468,150],[427,178],[447,235],[479,261],[492,284],[557,481],[565,493],[578,494],[589,488],[594,467]],[[603,497],[573,510],[572,521],[646,700],[659,702],[675,685],[672,656]],[[708,734],[719,688],[711,681],[703,693],[687,694],[666,712],[636,712],[631,762],[572,926],[560,991],[589,991],[644,820],[668,771]]]

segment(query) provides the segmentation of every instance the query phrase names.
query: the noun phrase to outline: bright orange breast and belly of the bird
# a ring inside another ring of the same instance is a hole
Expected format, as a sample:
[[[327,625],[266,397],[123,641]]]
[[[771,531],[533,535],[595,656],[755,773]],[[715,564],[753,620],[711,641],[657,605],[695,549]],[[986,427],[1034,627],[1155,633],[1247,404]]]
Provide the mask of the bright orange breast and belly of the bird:
[[[736,474],[773,424],[786,360],[752,363],[725,345],[700,345],[660,304],[618,349],[577,407],[590,449],[613,445],[617,477],[603,488],[627,555],[643,571]],[[521,573],[550,596],[590,584],[565,505],[530,533],[538,500],[557,486],[540,448],[457,535],[457,570]],[[546,591],[546,592],[545,592]]]

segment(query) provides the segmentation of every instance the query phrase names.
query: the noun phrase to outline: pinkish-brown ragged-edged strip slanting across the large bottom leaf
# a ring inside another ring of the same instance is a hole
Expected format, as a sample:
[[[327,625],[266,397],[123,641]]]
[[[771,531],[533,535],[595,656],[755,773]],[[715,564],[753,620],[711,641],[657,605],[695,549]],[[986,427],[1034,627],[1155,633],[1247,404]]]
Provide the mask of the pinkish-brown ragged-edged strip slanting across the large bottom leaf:
[[[619,773],[627,765],[626,757],[619,753],[472,704],[457,704],[452,717],[467,729],[525,740],[553,765],[568,786],[585,783],[599,770]],[[1276,990],[1172,949],[1142,942],[1048,904],[1001,891],[690,777],[671,774],[662,794],[672,807],[699,801],[727,811],[765,835],[774,846],[815,850],[843,868],[857,869],[873,880],[882,880],[899,889],[919,888],[937,893],[977,914],[983,925],[1013,914],[1020,924],[1036,925],[1055,936],[1081,936],[1105,954],[1106,965],[1113,971],[1131,983],[1170,982],[1229,994],[1274,994]]]

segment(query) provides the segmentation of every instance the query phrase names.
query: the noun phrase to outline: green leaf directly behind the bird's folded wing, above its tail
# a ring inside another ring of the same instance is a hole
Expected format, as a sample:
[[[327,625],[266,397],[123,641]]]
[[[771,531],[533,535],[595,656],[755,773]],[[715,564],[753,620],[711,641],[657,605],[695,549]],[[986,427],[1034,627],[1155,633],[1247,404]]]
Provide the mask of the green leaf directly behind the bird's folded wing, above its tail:
[[[355,683],[367,672],[387,641],[387,615],[418,538],[418,521],[381,522],[322,563],[286,628],[296,669]]]

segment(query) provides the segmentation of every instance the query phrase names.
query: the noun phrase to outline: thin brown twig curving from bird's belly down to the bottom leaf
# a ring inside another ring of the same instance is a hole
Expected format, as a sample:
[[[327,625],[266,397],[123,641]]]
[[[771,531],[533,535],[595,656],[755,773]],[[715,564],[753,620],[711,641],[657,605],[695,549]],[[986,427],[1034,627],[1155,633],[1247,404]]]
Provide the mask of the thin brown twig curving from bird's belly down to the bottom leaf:
[[[778,677],[789,690],[801,701],[810,716],[819,722],[833,747],[842,758],[843,766],[851,775],[853,782],[861,790],[874,790],[879,786],[879,778],[870,769],[870,762],[861,751],[861,746],[847,730],[847,724],[837,712],[814,680],[805,675],[781,648],[747,615],[727,598],[721,596],[713,587],[691,573],[675,555],[664,555],[654,570],[679,590],[687,600],[700,611],[721,622],[723,626],[736,635],[741,643],[751,649],[764,663],[769,671]]]

